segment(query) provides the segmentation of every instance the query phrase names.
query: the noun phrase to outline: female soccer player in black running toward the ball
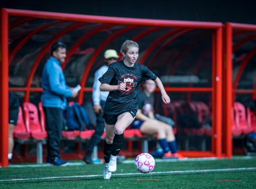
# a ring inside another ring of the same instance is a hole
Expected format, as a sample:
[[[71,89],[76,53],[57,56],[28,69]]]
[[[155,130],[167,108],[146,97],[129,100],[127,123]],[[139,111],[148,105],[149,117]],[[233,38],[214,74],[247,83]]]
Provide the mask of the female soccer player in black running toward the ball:
[[[170,103],[160,79],[146,66],[136,62],[139,45],[126,40],[121,46],[122,60],[112,63],[107,72],[99,78],[101,91],[110,91],[106,100],[103,118],[106,139],[104,142],[105,166],[103,178],[110,179],[116,171],[116,158],[123,143],[124,130],[133,122],[137,109],[137,95],[142,80],[153,80],[162,94],[164,103]]]

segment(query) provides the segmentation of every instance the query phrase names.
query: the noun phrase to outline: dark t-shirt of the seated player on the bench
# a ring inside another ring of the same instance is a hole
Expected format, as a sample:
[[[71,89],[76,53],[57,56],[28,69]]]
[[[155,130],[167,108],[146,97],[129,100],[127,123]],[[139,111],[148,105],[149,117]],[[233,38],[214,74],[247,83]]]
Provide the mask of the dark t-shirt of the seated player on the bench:
[[[149,112],[154,111],[154,98],[153,95],[149,97],[144,91],[141,91],[137,97],[139,108],[145,116],[148,116]]]

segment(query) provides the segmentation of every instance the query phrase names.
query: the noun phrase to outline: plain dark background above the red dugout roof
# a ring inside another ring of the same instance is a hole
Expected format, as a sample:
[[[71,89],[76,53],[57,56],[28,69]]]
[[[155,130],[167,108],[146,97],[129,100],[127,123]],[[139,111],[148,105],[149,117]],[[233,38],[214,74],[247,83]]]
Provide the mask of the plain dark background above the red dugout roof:
[[[255,0],[2,0],[0,6],[102,16],[256,24]]]

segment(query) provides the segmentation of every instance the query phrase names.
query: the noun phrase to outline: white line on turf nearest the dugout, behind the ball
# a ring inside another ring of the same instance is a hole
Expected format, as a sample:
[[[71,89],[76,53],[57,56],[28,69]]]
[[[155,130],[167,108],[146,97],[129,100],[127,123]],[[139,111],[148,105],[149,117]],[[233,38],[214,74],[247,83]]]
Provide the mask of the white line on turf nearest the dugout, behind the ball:
[[[156,159],[156,162],[177,162],[177,161],[214,161],[214,160],[225,160],[228,158],[216,158],[216,157],[205,157],[205,158],[186,158],[184,160],[179,160],[179,159]],[[244,159],[255,159],[255,156],[237,156],[237,157],[232,157],[233,160],[244,160]],[[123,164],[129,164],[129,163],[134,163],[134,160],[123,160]],[[103,164],[101,162],[96,162],[95,164]],[[86,165],[84,162],[76,162],[76,163],[69,163],[68,166],[74,166],[74,165]],[[23,168],[23,167],[50,167],[53,166],[49,163],[46,164],[30,164],[30,165],[9,165],[10,168]],[[0,168],[2,168],[0,166]]]

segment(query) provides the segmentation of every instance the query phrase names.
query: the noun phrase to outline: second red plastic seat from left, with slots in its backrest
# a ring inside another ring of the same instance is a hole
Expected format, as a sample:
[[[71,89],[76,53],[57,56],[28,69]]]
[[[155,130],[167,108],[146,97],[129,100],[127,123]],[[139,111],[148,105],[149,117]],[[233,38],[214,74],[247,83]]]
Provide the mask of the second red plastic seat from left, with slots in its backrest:
[[[45,139],[47,137],[47,132],[45,131],[44,125],[41,126],[38,117],[37,107],[30,103],[24,102],[24,113],[25,113],[25,124],[28,128],[28,131],[31,132],[31,136],[34,139]]]

